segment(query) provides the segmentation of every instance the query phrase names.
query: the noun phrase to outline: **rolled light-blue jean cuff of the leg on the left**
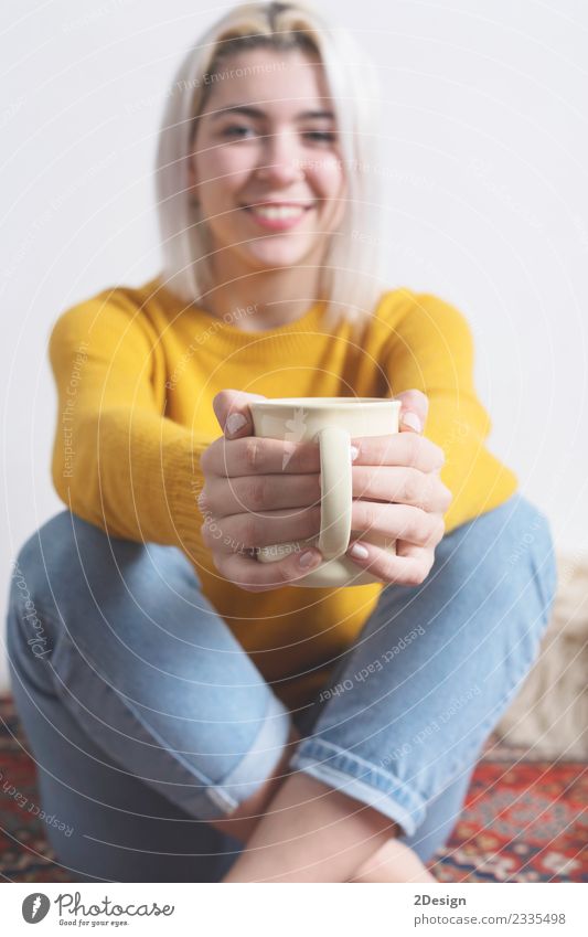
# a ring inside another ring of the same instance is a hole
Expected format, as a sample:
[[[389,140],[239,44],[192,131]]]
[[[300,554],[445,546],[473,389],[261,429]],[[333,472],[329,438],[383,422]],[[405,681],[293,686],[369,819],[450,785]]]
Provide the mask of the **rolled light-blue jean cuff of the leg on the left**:
[[[249,750],[220,784],[206,790],[212,809],[202,819],[222,819],[255,794],[281,758],[290,726],[290,711],[271,694],[264,722]]]

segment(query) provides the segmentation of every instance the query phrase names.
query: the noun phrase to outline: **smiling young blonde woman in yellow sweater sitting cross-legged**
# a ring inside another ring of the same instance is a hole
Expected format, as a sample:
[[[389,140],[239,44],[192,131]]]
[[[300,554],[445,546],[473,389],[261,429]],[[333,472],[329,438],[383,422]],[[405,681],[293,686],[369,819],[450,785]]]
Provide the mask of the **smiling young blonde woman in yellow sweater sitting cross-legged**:
[[[66,510],[8,640],[76,880],[431,881],[536,654],[549,525],[485,446],[464,317],[377,274],[372,89],[311,9],[231,11],[170,90],[163,271],[53,328]],[[249,401],[393,391],[402,432],[353,440],[377,582],[292,588],[317,550],[255,552],[318,533],[317,447],[255,439]]]

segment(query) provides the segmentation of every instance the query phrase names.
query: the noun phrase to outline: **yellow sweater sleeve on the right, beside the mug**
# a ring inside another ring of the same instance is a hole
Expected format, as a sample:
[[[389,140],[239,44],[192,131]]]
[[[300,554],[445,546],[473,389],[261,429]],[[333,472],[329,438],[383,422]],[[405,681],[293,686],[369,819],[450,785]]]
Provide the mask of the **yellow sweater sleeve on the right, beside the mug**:
[[[470,326],[453,306],[411,294],[388,343],[386,369],[394,394],[416,387],[427,394],[424,435],[443,449],[441,479],[453,494],[446,533],[499,507],[516,491],[517,478],[485,446],[492,424],[474,386]]]

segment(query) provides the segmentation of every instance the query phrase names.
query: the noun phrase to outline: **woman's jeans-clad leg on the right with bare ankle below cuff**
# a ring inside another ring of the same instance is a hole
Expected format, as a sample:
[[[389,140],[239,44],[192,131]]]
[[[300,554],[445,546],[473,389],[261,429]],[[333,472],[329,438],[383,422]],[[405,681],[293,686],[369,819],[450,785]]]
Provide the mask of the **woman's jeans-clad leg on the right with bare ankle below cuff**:
[[[383,589],[291,767],[346,795],[350,814],[359,802],[388,818],[429,859],[537,653],[555,587],[548,522],[520,493],[452,531],[425,583]],[[308,794],[297,800],[296,784],[296,775],[285,781],[225,881],[257,881],[268,867],[274,881],[296,881],[279,876],[297,874],[300,839],[280,841],[274,816],[277,802],[289,827],[309,829],[313,808]],[[307,864],[325,863],[323,830],[303,844]]]

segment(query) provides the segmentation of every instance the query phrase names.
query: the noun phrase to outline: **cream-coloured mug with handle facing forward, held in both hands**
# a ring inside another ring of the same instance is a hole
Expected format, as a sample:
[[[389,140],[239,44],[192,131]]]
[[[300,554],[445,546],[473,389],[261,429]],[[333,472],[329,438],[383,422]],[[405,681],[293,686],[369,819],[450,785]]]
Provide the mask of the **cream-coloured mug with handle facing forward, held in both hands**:
[[[398,433],[400,401],[384,397],[278,397],[253,401],[254,435],[291,443],[317,441],[321,467],[321,529],[319,536],[263,546],[260,563],[282,560],[293,551],[317,546],[324,561],[292,586],[364,586],[382,582],[345,556],[351,541],[351,439]],[[286,468],[287,461],[282,466]],[[287,481],[285,482],[287,483]],[[394,541],[368,531],[366,543],[395,554]]]

